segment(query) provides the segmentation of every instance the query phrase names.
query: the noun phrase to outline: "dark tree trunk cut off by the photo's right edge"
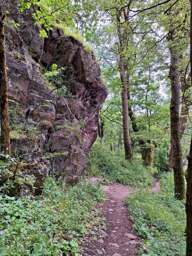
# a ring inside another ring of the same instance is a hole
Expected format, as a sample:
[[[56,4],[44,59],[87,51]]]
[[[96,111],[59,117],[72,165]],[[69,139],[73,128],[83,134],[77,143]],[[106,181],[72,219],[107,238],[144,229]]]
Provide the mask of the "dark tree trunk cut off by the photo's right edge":
[[[192,76],[192,1],[190,20],[190,64]],[[186,256],[192,256],[192,140],[190,145],[187,169],[187,189],[186,189]]]

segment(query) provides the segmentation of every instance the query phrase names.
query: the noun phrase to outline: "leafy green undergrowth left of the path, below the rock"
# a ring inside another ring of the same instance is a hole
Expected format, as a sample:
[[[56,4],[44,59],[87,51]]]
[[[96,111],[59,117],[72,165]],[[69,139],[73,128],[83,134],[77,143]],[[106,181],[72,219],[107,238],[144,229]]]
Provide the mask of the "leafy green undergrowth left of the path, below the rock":
[[[66,190],[51,177],[45,180],[41,197],[1,194],[0,255],[81,255],[81,237],[99,226],[99,211],[91,210],[104,196],[99,186],[81,182]]]

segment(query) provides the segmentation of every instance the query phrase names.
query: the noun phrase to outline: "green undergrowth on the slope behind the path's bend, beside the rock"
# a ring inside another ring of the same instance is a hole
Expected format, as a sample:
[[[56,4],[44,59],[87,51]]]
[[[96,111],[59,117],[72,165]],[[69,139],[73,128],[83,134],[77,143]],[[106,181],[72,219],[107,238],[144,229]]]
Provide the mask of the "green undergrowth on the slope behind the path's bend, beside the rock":
[[[138,157],[132,163],[125,160],[123,150],[110,150],[106,143],[96,141],[89,154],[90,174],[105,177],[112,182],[139,188],[151,187],[154,179],[151,168],[142,165]]]

